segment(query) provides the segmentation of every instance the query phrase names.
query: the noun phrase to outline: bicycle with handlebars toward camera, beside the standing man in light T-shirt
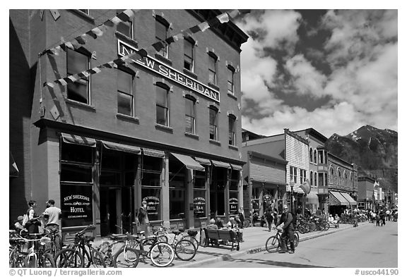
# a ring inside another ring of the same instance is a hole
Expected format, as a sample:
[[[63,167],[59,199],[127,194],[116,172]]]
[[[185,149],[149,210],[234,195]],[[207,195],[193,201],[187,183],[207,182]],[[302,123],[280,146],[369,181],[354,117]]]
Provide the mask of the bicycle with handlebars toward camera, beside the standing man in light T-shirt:
[[[54,258],[51,254],[45,252],[45,245],[51,242],[51,239],[48,238],[43,233],[28,233],[27,236],[29,238],[23,238],[21,236],[20,231],[20,238],[25,242],[33,242],[33,245],[28,249],[27,253],[23,253],[26,255],[26,259],[28,262],[28,267],[31,268],[52,268],[55,267]]]

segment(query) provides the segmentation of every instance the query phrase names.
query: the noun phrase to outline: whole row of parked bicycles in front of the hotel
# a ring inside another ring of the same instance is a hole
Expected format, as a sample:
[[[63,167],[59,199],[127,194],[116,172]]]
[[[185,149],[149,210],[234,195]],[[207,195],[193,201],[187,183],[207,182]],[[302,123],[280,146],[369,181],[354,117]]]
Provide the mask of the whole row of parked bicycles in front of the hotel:
[[[117,226],[119,227],[119,226]],[[120,228],[120,227],[119,227]],[[154,235],[143,238],[144,232],[131,235],[110,235],[98,247],[93,246],[95,237],[86,233],[95,230],[94,225],[67,235],[73,235],[68,245],[61,244],[57,231],[28,233],[26,229],[9,234],[9,266],[34,268],[83,268],[83,267],[136,267],[140,261],[150,260],[155,266],[172,264],[175,257],[189,261],[201,245],[196,240],[197,231],[171,230],[161,224]]]

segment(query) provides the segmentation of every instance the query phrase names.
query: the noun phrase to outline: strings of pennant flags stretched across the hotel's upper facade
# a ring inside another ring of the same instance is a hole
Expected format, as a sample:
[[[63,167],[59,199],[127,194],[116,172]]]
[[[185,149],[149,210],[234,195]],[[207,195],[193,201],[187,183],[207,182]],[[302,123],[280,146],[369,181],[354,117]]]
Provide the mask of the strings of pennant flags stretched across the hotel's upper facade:
[[[177,33],[176,35],[172,35],[171,37],[167,37],[167,39],[165,39],[164,41],[155,42],[154,44],[151,45],[151,47],[153,47],[153,49],[155,51],[159,52],[161,49],[166,47],[166,45],[170,45],[171,43],[176,42],[178,39],[180,39],[182,37],[190,36],[192,34],[195,34],[196,32],[205,32],[209,27],[215,27],[218,24],[227,23],[230,19],[235,18],[236,16],[239,16],[240,14],[245,14],[245,13],[249,13],[249,12],[250,12],[250,10],[235,9],[235,10],[227,11],[225,13],[221,13],[219,16],[216,16],[215,18],[211,18],[210,20],[200,23],[199,25],[195,25],[186,30],[182,30],[181,32]],[[122,13],[118,14],[114,18],[107,20],[107,22],[108,22],[107,24],[103,23],[99,27],[95,27],[92,30],[86,32],[85,34],[83,34],[79,37],[83,38],[85,35],[90,35],[93,38],[100,37],[102,35],[102,33],[105,31],[106,26],[113,27],[114,25],[117,25],[120,22],[119,20],[129,20],[133,16],[134,16],[134,10],[123,11]],[[98,30],[95,30],[95,29],[98,29]],[[91,35],[91,34],[93,34],[93,35]],[[78,44],[76,44],[75,41],[78,42]],[[83,42],[83,44],[85,44],[84,39],[80,40],[80,39],[78,39],[78,37],[76,37],[75,39],[73,39],[73,41],[64,42],[63,44],[60,44],[58,47],[55,47],[54,49],[48,49],[48,50],[44,51],[44,53],[56,54],[60,50],[66,51],[66,48],[76,49],[75,47],[78,47],[78,48],[81,47],[80,41]],[[74,42],[74,43],[72,43],[72,42]],[[55,86],[54,84],[67,85],[68,83],[76,82],[77,80],[80,80],[82,78],[88,78],[89,75],[100,73],[102,71],[102,68],[117,68],[117,66],[121,66],[126,63],[135,65],[136,64],[136,61],[134,60],[135,56],[140,56],[141,58],[145,58],[146,56],[148,56],[148,51],[147,51],[147,49],[144,49],[144,48],[138,49],[138,51],[136,51],[134,53],[131,53],[126,56],[122,56],[121,58],[114,59],[113,61],[109,61],[107,63],[103,63],[100,66],[96,66],[94,68],[84,70],[81,73],[69,75],[66,78],[61,78],[58,80],[54,80],[52,82],[45,82],[44,86],[54,87]]]

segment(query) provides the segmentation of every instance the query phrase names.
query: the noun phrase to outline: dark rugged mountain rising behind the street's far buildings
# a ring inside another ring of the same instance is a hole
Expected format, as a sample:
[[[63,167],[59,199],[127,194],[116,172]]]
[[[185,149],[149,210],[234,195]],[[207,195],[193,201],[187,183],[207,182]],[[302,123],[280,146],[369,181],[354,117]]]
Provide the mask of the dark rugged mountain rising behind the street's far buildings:
[[[365,125],[352,133],[331,135],[325,143],[331,154],[358,165],[358,176],[370,176],[385,190],[398,192],[398,133]]]

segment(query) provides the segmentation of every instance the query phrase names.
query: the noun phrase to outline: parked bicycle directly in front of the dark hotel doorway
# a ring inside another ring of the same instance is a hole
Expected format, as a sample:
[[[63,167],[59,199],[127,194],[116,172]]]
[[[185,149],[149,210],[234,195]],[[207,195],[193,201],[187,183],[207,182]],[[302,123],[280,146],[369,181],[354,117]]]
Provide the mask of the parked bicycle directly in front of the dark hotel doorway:
[[[117,226],[117,225],[116,225]],[[122,228],[120,226],[117,226]],[[124,228],[122,228],[124,230]],[[136,267],[138,261],[140,260],[140,254],[131,245],[132,242],[138,237],[135,235],[130,235],[129,232],[125,234],[112,234],[110,239],[114,242],[102,242],[102,245],[98,248],[100,253],[103,255],[103,259],[107,266],[113,267]],[[122,245],[124,243],[124,245]],[[112,254],[115,245],[121,245],[119,250]]]

